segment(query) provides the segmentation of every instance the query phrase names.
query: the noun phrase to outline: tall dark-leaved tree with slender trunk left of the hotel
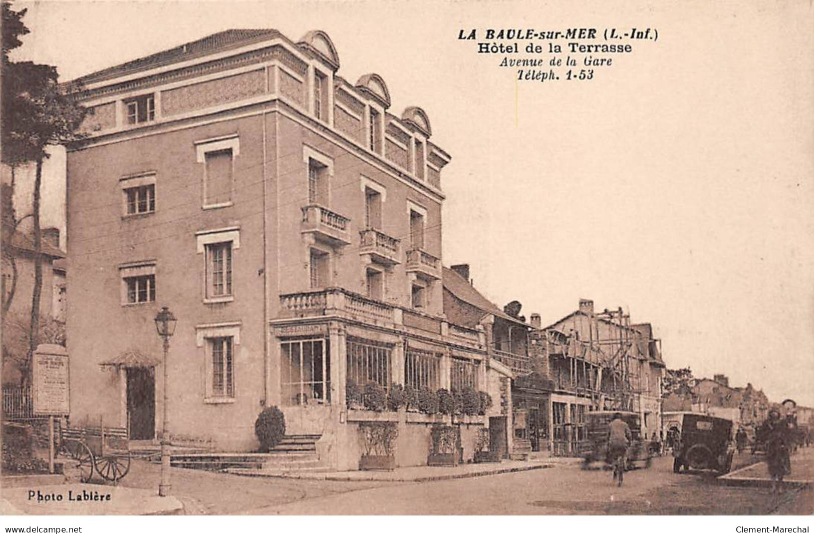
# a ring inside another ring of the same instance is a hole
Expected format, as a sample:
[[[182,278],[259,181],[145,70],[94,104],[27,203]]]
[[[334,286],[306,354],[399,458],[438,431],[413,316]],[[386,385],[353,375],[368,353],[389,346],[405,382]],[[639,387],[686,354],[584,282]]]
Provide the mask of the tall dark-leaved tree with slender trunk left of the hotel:
[[[61,88],[56,67],[30,61],[13,62],[9,51],[20,46],[20,37],[29,33],[22,19],[26,10],[13,11],[2,4],[2,163],[13,169],[21,163],[35,163],[33,202],[34,285],[28,354],[37,348],[42,297],[42,232],[40,231],[40,189],[46,147],[77,139],[85,118],[85,108],[77,102],[77,88]],[[13,232],[12,232],[13,233]],[[28,368],[29,366],[25,366]],[[24,377],[24,381],[28,377]]]

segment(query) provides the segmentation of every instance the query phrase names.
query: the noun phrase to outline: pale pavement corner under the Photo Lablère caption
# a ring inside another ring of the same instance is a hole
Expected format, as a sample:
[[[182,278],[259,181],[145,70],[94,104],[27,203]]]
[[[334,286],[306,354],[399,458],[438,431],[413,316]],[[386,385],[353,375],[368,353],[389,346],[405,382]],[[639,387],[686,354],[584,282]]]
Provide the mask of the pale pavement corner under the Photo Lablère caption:
[[[155,489],[104,484],[55,484],[3,488],[3,515],[180,515],[176,497],[159,497]]]

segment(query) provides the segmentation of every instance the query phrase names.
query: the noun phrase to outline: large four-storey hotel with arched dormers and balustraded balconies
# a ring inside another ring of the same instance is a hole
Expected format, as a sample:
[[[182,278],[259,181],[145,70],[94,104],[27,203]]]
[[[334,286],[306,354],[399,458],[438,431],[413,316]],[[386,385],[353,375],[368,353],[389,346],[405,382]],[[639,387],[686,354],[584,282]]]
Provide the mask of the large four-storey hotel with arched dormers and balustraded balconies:
[[[68,147],[72,417],[154,439],[160,306],[173,441],[257,446],[264,406],[322,460],[356,468],[346,384],[469,385],[501,412],[484,332],[444,319],[440,171],[427,114],[392,115],[384,80],[339,76],[322,32],[227,30],[82,77],[88,137]],[[398,420],[396,462],[431,423]],[[465,458],[475,430],[462,425]]]

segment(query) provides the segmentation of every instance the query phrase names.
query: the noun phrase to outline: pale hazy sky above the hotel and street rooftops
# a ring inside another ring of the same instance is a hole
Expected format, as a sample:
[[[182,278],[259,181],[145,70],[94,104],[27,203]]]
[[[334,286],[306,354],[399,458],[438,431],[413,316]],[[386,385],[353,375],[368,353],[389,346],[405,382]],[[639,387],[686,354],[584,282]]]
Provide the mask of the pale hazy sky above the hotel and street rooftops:
[[[377,72],[391,112],[427,111],[453,157],[443,260],[469,263],[486,296],[544,324],[581,297],[622,306],[653,324],[668,367],[814,406],[811,2],[15,7],[32,30],[15,59],[53,64],[60,80],[226,28],[322,29],[340,76]],[[476,53],[486,28],[571,27],[659,38],[576,82],[519,82],[503,54]],[[477,41],[457,39],[471,28]]]

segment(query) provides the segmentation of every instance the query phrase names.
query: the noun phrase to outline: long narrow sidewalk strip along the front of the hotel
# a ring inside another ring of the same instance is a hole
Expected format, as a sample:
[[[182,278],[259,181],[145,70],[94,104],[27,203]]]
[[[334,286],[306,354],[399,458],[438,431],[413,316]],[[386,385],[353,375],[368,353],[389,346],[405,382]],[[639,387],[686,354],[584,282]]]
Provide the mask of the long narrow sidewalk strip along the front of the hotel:
[[[273,471],[266,469],[227,469],[225,472],[244,476],[265,476],[297,480],[377,480],[382,482],[428,482],[431,480],[465,479],[473,476],[501,475],[553,467],[548,461],[505,460],[500,463],[466,463],[457,467],[398,467],[393,471]]]

